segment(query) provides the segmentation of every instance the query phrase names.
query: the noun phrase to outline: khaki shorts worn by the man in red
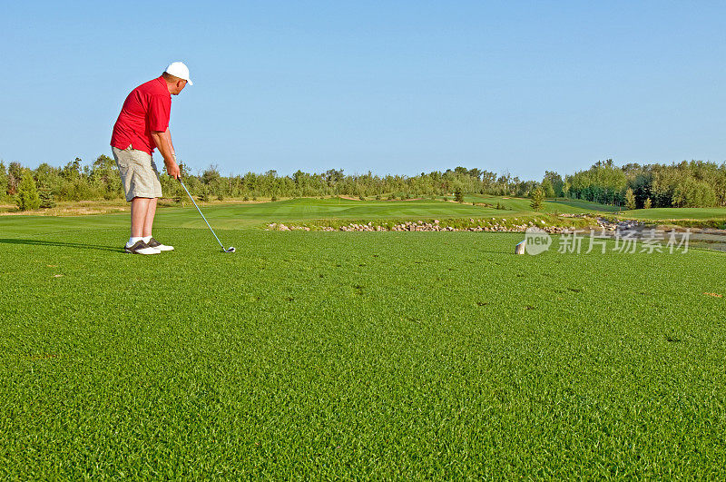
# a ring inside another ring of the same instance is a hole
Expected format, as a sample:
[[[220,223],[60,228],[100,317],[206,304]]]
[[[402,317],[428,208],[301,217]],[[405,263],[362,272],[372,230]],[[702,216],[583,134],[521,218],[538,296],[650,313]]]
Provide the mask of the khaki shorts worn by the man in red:
[[[132,149],[131,145],[126,149],[112,147],[111,150],[119,167],[127,202],[131,202],[133,198],[162,197],[159,171],[151,155]]]

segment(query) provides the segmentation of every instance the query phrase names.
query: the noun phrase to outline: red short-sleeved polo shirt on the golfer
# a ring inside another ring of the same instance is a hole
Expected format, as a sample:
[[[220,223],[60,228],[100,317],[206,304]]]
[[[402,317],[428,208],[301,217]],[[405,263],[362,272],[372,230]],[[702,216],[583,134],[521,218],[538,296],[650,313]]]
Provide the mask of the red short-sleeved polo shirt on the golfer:
[[[169,127],[172,95],[163,77],[141,84],[129,93],[121,113],[113,125],[111,145],[118,149],[133,149],[152,154],[156,143],[152,131],[164,132]]]

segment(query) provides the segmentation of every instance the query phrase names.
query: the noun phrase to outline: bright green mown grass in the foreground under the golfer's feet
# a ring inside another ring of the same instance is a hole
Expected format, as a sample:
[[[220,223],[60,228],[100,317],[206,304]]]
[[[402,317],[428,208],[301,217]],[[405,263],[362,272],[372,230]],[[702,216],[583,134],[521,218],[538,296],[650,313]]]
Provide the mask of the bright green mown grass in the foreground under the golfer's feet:
[[[194,216],[2,220],[0,474],[726,476],[723,253]]]

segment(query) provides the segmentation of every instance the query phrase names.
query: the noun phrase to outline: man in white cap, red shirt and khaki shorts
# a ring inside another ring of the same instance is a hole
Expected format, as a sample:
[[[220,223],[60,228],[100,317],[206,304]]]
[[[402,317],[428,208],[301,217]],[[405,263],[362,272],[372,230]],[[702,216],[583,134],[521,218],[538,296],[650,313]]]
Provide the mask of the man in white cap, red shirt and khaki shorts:
[[[158,148],[166,172],[174,179],[181,177],[169,133],[169,116],[172,95],[179,95],[186,84],[192,85],[187,66],[181,62],[170,64],[160,77],[129,93],[113,125],[113,158],[121,174],[126,202],[131,202],[131,238],[126,243],[126,252],[159,254],[174,249],[152,237],[156,200],[162,197],[152,153]]]

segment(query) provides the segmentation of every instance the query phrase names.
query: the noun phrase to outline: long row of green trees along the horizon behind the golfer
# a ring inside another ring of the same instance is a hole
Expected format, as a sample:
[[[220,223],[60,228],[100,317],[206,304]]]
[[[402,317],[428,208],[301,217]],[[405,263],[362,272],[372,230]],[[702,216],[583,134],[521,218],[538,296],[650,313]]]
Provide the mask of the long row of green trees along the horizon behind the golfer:
[[[563,177],[545,171],[542,181],[522,180],[508,172],[456,167],[446,171],[421,172],[415,176],[346,174],[297,171],[247,172],[223,176],[215,166],[193,174],[183,163],[182,177],[190,192],[211,199],[256,200],[281,197],[355,196],[377,199],[449,196],[456,192],[489,195],[567,197],[628,208],[711,207],[726,205],[726,163],[681,162],[672,164],[629,163],[616,166],[612,160],[595,162],[590,169]],[[161,175],[162,192],[182,202],[186,193],[179,182]],[[123,186],[116,162],[101,155],[93,163],[79,158],[63,167],[42,163],[29,169],[18,162],[0,162],[0,201],[15,202],[21,210],[51,208],[55,202],[123,199]]]

